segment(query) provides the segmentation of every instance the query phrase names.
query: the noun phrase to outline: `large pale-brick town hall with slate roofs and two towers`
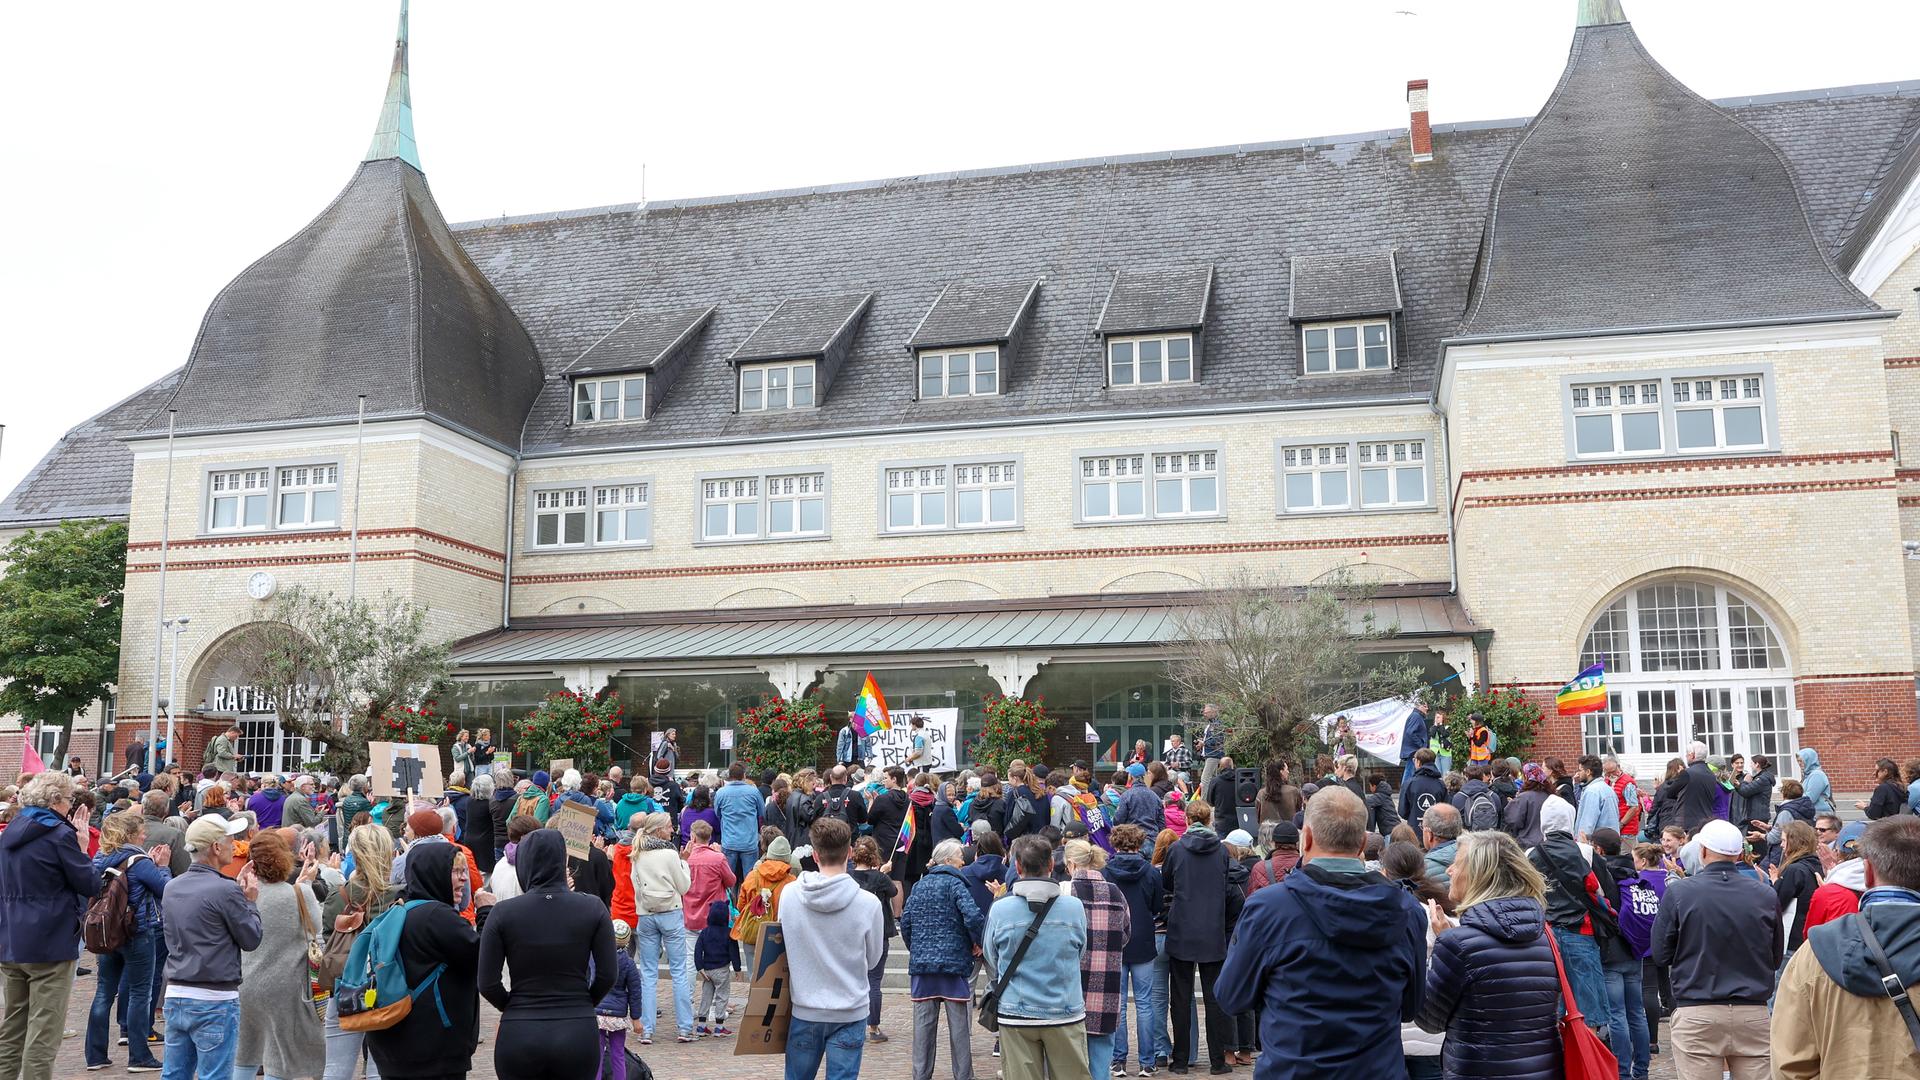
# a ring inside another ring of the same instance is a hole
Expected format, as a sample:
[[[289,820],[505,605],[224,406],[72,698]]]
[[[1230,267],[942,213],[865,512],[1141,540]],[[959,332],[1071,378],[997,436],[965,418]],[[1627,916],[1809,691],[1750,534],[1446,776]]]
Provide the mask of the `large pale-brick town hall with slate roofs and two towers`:
[[[1158,742],[1192,590],[1344,567],[1436,678],[1603,657],[1551,751],[1864,786],[1920,742],[1920,94],[1709,102],[1578,12],[1530,119],[467,225],[401,35],[340,196],[0,528],[129,519],[111,736],[173,632],[190,763],[301,759],[225,648],[294,582],[426,603],[476,724],[611,684],[708,761],[868,669]]]

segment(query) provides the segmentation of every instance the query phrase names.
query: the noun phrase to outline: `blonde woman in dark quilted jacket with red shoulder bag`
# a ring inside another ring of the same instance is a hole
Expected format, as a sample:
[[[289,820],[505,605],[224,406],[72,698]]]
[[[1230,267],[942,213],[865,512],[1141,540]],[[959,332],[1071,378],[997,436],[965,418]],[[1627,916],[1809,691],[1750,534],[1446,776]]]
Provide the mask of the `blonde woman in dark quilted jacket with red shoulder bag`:
[[[1446,1032],[1446,1076],[1559,1080],[1559,974],[1548,938],[1546,878],[1505,832],[1467,832],[1450,896],[1459,926],[1428,901],[1427,995],[1413,1019]]]

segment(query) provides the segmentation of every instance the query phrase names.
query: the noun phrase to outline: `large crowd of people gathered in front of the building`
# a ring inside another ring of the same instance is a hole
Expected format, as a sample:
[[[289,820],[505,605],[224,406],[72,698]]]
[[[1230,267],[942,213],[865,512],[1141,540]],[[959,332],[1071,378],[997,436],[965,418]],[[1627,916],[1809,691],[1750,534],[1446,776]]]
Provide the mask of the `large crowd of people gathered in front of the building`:
[[[975,1024],[1008,1080],[1548,1080],[1572,1011],[1620,1080],[1663,1038],[1684,1080],[1920,1076],[1889,994],[1920,980],[1920,761],[1882,761],[1847,821],[1811,748],[1788,778],[1703,744],[1659,782],[1607,755],[1453,771],[1446,717],[1419,721],[1371,782],[1340,730],[1311,776],[1238,769],[1212,707],[1194,748],[1100,771],[876,769],[849,726],[831,767],[758,776],[678,769],[672,732],[636,776],[515,771],[461,732],[432,803],[250,776],[238,732],[198,778],[21,776],[0,1080],[81,1034],[88,1068],[125,1047],[167,1080],[467,1076],[482,999],[497,1076],[626,1080],[657,1040],[735,1034],[770,924],[789,1080],[851,1080],[889,1030],[914,1080],[943,1053],[972,1080]],[[411,1007],[374,1022],[380,955]]]

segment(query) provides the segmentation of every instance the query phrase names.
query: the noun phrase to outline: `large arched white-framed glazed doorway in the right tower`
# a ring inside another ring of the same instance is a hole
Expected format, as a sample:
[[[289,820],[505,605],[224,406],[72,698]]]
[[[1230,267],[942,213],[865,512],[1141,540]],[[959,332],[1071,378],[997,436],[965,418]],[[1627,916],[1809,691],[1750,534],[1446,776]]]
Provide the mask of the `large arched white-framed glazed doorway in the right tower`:
[[[1659,778],[1693,740],[1711,755],[1755,753],[1793,765],[1793,669],[1772,619],[1740,592],[1695,578],[1630,586],[1580,646],[1605,661],[1607,709],[1582,717],[1582,751],[1617,753]]]

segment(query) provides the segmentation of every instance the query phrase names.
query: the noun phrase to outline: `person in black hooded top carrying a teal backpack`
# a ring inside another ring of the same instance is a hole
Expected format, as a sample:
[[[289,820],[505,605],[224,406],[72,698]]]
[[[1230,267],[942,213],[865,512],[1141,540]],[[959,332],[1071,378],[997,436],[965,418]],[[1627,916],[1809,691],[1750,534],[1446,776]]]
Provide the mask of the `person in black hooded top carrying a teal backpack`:
[[[559,834],[553,840],[564,853],[566,842]],[[411,995],[411,1007],[397,1022],[367,1032],[367,1049],[382,1080],[467,1076],[472,1068],[474,1047],[480,1045],[476,970],[484,949],[480,934],[453,907],[455,874],[467,876],[465,859],[451,844],[422,844],[411,851],[399,903],[369,922],[353,942],[355,957],[399,969],[399,980],[376,984],[376,1007],[394,1001],[390,988]],[[480,894],[478,903],[482,911],[492,911],[493,897]],[[336,994],[348,992],[348,982],[361,982],[361,970],[349,959]],[[505,1038],[503,1020],[499,1040]]]

